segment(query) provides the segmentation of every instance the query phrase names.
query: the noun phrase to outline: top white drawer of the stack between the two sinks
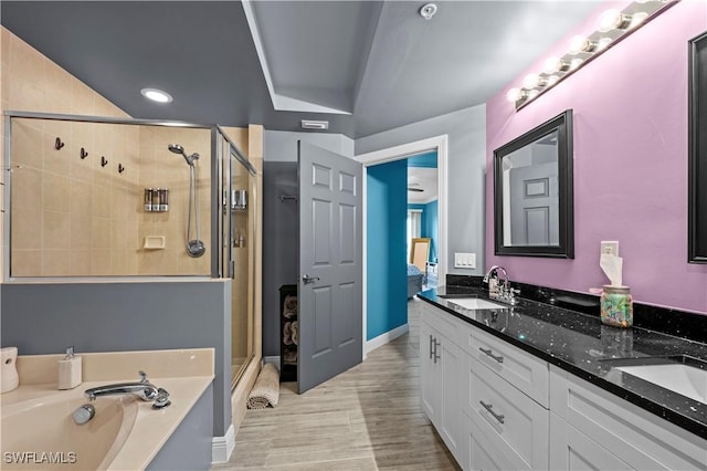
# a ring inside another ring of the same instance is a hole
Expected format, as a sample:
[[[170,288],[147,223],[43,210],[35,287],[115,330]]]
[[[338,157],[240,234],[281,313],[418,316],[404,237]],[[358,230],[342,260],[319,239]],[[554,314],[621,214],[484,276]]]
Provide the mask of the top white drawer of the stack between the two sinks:
[[[479,328],[466,339],[468,354],[482,365],[549,408],[549,373],[547,362],[537,358]]]

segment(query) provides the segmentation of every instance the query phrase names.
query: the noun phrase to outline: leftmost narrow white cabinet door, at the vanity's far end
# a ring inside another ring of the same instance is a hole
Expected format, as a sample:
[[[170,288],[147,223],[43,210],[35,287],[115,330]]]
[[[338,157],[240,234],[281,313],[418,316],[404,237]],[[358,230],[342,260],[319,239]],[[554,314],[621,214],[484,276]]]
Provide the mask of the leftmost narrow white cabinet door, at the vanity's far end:
[[[420,394],[422,409],[439,430],[439,414],[442,402],[441,369],[434,354],[435,335],[425,322],[420,323]]]

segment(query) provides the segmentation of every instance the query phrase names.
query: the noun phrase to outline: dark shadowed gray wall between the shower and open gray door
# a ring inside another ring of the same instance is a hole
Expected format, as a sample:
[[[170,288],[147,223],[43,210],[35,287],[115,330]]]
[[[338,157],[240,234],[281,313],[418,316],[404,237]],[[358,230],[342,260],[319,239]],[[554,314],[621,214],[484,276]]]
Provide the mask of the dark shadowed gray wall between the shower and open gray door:
[[[263,164],[263,356],[279,355],[279,286],[297,284],[299,212],[297,164]]]

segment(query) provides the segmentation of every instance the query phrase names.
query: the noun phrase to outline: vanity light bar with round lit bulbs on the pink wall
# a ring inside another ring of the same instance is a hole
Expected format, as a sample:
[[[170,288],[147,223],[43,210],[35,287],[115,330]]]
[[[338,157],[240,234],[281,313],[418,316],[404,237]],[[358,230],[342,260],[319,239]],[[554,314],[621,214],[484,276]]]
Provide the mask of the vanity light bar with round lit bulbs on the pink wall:
[[[595,31],[573,36],[564,55],[548,59],[542,72],[526,75],[521,86],[510,88],[506,98],[515,104],[516,111],[523,108],[678,1],[636,0],[621,11],[604,11]]]

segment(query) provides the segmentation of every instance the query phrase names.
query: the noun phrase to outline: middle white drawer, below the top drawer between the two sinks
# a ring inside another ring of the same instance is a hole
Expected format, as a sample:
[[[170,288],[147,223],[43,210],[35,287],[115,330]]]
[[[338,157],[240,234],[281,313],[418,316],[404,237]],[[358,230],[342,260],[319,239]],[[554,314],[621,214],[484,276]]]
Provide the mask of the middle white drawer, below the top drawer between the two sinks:
[[[471,363],[464,408],[481,437],[503,450],[511,469],[547,469],[549,411],[489,368]]]

